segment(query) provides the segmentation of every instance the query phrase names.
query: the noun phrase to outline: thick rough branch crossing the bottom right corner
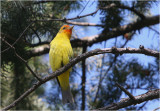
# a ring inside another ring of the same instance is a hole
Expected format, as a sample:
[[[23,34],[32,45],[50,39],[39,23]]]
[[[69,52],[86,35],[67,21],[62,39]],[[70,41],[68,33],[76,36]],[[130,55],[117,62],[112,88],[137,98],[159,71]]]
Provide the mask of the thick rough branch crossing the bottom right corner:
[[[156,90],[148,91],[145,94],[135,96],[134,98],[136,100],[136,104],[140,104],[145,101],[160,98],[159,94],[160,94],[160,89],[156,89]],[[113,103],[113,104],[110,104],[110,105],[105,106],[103,108],[99,108],[97,110],[118,110],[118,109],[125,108],[127,106],[131,106],[134,104],[135,104],[135,101],[133,101],[130,98],[126,98],[126,99],[122,99],[118,103]]]

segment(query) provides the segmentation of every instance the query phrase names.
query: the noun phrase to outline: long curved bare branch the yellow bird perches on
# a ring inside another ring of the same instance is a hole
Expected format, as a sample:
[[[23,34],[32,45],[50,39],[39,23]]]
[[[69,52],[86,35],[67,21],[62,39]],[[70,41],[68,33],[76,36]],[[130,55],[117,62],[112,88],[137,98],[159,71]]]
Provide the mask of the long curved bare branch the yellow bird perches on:
[[[104,54],[104,53],[144,53],[147,55],[152,55],[155,57],[158,57],[159,53],[157,51],[152,51],[150,49],[145,49],[145,48],[139,48],[139,49],[135,49],[135,48],[105,48],[105,49],[96,49],[96,50],[92,50],[86,53],[83,53],[79,56],[77,56],[76,58],[72,59],[70,61],[70,63],[68,63],[67,65],[65,65],[64,67],[60,68],[59,70],[53,72],[52,74],[49,74],[48,76],[44,77],[41,81],[38,81],[37,83],[35,83],[30,89],[28,89],[26,92],[24,92],[19,98],[17,98],[15,101],[13,101],[10,105],[6,106],[3,110],[8,110],[13,108],[14,106],[16,106],[16,104],[18,104],[22,99],[24,99],[25,97],[27,97],[30,93],[32,93],[34,90],[36,90],[40,85],[44,84],[45,82],[59,76],[60,74],[64,73],[66,70],[68,70],[70,67],[72,67],[73,65],[75,65],[76,63],[90,57],[93,55],[98,55],[98,54]],[[157,97],[157,96],[156,96]]]

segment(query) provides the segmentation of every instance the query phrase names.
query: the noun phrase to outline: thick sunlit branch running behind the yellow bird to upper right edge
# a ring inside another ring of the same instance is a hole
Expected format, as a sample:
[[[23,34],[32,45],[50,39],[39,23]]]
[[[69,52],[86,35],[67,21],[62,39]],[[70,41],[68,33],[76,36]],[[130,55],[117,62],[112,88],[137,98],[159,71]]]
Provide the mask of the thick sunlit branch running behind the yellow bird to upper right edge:
[[[160,15],[153,16],[153,17],[146,17],[144,20],[140,20],[140,21],[137,21],[137,22],[134,22],[134,23],[124,25],[124,26],[113,28],[111,31],[102,32],[99,35],[94,35],[94,36],[90,36],[90,37],[83,37],[81,39],[71,40],[72,47],[83,47],[85,45],[86,46],[91,46],[94,43],[106,41],[106,40],[109,40],[111,38],[115,38],[117,36],[124,35],[125,33],[131,32],[131,31],[140,30],[144,27],[158,24],[160,22],[159,21],[159,16]],[[28,51],[28,53],[30,53],[30,55],[28,55],[29,58],[32,57],[32,56],[48,53],[49,52],[49,45],[48,46],[42,46],[42,49],[45,49],[45,50],[39,50],[39,51],[35,52],[34,49],[33,49],[31,51]]]

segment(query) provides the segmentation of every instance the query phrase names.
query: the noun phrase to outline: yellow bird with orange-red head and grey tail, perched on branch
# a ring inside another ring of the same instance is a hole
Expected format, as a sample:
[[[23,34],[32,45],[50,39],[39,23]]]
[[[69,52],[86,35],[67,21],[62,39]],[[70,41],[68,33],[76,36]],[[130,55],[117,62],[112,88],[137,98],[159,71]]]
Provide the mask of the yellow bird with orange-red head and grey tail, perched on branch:
[[[49,62],[52,71],[63,67],[69,63],[73,55],[70,43],[73,26],[63,25],[56,37],[50,43]],[[62,101],[65,103],[73,103],[74,99],[70,91],[69,75],[71,68],[57,77],[58,83],[62,90]]]

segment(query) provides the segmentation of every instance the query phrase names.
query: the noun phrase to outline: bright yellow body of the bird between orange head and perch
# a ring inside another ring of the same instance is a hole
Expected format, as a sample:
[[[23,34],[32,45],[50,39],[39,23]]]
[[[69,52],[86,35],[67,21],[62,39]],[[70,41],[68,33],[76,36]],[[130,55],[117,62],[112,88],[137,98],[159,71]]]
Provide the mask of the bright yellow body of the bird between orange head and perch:
[[[50,43],[49,61],[53,71],[69,63],[73,55],[70,40],[65,35],[60,34]]]

